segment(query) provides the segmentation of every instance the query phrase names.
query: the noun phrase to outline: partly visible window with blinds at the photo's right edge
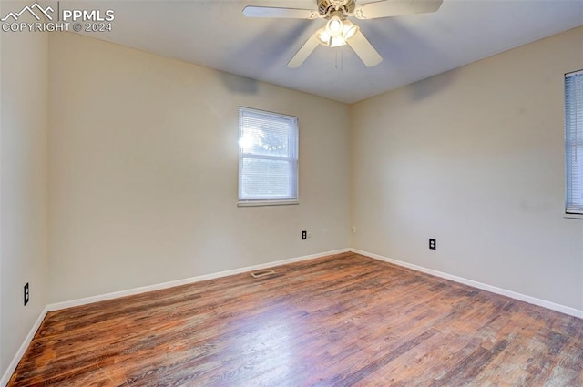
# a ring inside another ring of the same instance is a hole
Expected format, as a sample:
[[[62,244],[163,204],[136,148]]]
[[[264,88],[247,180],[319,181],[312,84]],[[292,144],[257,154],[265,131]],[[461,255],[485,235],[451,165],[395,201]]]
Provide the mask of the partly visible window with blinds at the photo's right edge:
[[[583,215],[583,70],[565,75],[567,215]]]

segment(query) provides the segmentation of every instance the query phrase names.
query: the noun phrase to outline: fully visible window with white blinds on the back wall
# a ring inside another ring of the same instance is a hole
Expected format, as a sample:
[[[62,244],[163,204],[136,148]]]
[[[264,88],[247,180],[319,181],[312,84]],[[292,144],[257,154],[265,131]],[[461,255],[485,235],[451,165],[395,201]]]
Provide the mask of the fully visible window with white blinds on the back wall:
[[[239,205],[298,203],[298,118],[239,108]]]

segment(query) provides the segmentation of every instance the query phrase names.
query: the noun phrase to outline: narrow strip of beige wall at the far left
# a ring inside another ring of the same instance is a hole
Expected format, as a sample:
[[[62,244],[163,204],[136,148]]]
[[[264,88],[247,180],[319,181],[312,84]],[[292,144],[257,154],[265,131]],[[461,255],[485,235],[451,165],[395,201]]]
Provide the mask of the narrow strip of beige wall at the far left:
[[[47,303],[48,39],[40,33],[0,36],[1,377]],[[30,302],[24,306],[26,282]]]

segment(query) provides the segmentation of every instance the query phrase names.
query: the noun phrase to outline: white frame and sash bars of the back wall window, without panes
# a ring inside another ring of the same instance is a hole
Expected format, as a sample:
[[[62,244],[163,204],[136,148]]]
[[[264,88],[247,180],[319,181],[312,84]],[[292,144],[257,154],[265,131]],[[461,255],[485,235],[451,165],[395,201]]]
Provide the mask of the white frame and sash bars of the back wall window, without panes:
[[[280,156],[267,156],[258,155],[254,153],[246,153],[243,147],[243,130],[244,121],[243,117],[245,115],[252,115],[261,117],[265,120],[270,118],[274,121],[281,122],[287,121],[290,125],[290,136],[288,137],[289,144],[288,148],[289,155],[287,157]],[[239,188],[238,188],[238,206],[239,207],[251,207],[251,206],[281,206],[281,205],[293,205],[299,204],[299,148],[300,148],[300,138],[299,138],[299,127],[298,127],[298,117],[288,116],[280,113],[273,113],[270,111],[254,109],[251,107],[239,107]],[[272,197],[251,197],[246,196],[243,192],[243,161],[246,158],[264,159],[264,160],[280,160],[285,161],[289,164],[289,174],[290,174],[290,191],[285,197],[272,196]]]

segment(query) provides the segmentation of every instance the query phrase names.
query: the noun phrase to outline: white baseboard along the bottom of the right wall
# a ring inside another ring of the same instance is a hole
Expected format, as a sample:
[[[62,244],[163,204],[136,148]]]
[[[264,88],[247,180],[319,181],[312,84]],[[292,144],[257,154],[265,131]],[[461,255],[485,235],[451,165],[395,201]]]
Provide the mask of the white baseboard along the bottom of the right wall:
[[[413,263],[404,262],[402,260],[393,260],[391,258],[383,257],[382,255],[373,254],[372,252],[357,249],[350,250],[357,254],[362,254],[375,260],[384,260],[385,262],[393,263],[394,265],[397,266],[403,266],[404,268],[421,271],[426,274],[434,275],[435,277],[444,278],[445,280],[453,280],[455,282],[463,283],[464,285],[472,286],[477,289],[490,291],[496,294],[501,294],[503,296],[510,297],[515,300],[525,301],[533,305],[542,306],[543,308],[547,308],[553,311],[560,311],[561,313],[565,313],[570,316],[575,316],[578,317],[579,319],[583,319],[583,311],[579,311],[578,309],[571,308],[565,305],[557,304],[555,302],[540,300],[535,297],[527,296],[526,294],[518,293],[512,290],[497,288],[496,286],[487,285],[486,283],[478,282],[476,280],[467,280],[463,277],[457,277],[455,275],[447,274],[445,272],[438,270],[427,269],[424,268],[423,266],[414,265]]]

